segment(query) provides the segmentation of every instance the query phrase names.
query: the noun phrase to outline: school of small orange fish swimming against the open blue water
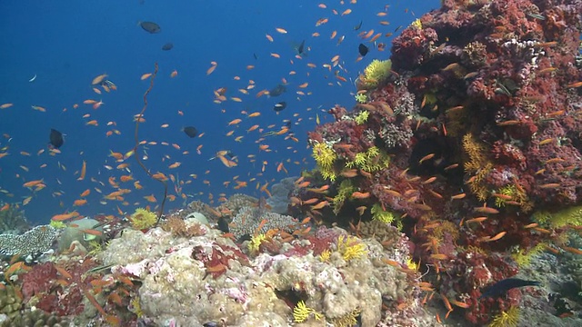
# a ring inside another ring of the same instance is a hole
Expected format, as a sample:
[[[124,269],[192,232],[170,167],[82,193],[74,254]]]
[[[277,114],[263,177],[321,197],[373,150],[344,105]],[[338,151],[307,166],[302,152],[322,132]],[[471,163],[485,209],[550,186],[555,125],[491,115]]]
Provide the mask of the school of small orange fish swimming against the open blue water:
[[[331,25],[336,24],[341,26],[341,19],[347,15],[354,15],[356,12],[356,0],[351,0],[349,3],[345,1],[340,1],[337,8],[332,8],[331,5],[326,4],[318,4],[317,7],[321,10],[322,17],[317,19],[314,22],[314,26],[316,31],[312,33],[312,40],[308,40],[309,43],[317,44],[321,43],[320,41],[316,41],[320,35],[317,32],[317,28],[321,25]],[[346,8],[350,6],[349,8]],[[377,24],[380,26],[386,26],[389,22],[386,20],[386,16],[388,15],[388,5],[385,5],[377,12],[377,18],[379,21],[373,24]],[[406,13],[407,13],[406,9]],[[411,13],[414,15],[414,13]],[[412,18],[412,16],[411,16]],[[366,22],[367,23],[367,22]],[[345,25],[345,24],[344,24]],[[331,35],[329,35],[329,41],[331,45],[341,45],[346,37],[357,37],[360,42],[366,43],[366,45],[370,45],[371,47],[375,47],[378,51],[384,51],[386,48],[386,41],[387,37],[390,37],[392,33],[384,34],[380,32],[376,32],[374,29],[370,28],[369,30],[359,31],[359,28],[362,24],[349,27],[348,31],[341,31],[341,30],[334,30]],[[372,26],[372,24],[368,24]],[[399,27],[396,28],[396,30]],[[283,26],[275,26],[273,27],[272,32],[266,33],[266,40],[268,43],[276,43],[278,40],[277,35],[288,35],[291,34],[292,31],[288,31],[287,28]],[[319,46],[319,45],[318,45]],[[296,52],[290,54],[278,54],[276,52],[271,52],[270,57],[275,58],[276,60],[288,60],[288,64],[291,67],[291,70],[288,72],[288,76],[281,77],[281,83],[284,85],[289,85],[293,88],[293,92],[295,93],[296,100],[300,104],[301,101],[307,100],[308,96],[312,94],[313,91],[309,89],[310,84],[315,84],[310,82],[309,77],[312,72],[315,72],[316,69],[321,69],[324,74],[331,74],[334,79],[330,78],[326,84],[331,87],[338,87],[338,86],[348,86],[351,87],[352,85],[352,77],[354,73],[349,73],[346,69],[346,61],[355,61],[358,62],[362,60],[362,56],[353,56],[350,55],[344,58],[340,54],[336,54],[329,59],[326,63],[313,63],[309,62],[308,59],[301,54],[297,54]],[[153,64],[152,64],[153,65]],[[256,65],[258,64],[248,64],[244,67],[246,71],[251,71],[256,69]],[[210,66],[206,69],[206,75],[211,75],[219,70],[219,64],[215,61],[210,63]],[[306,69],[302,69],[301,66],[306,66]],[[293,67],[297,67],[294,69]],[[305,76],[298,77],[297,71],[305,71]],[[169,76],[158,75],[157,78],[171,78],[174,79],[178,77],[178,72],[173,70]],[[326,75],[327,78],[328,75]],[[156,77],[156,74],[152,72],[146,72],[139,77],[142,81],[148,82],[151,81],[153,87],[155,88],[155,84],[153,84],[153,78]],[[93,79],[88,78],[87,87],[90,87],[92,91],[95,93],[96,97],[106,97],[107,94],[111,92],[119,92],[117,89],[117,85],[115,85],[112,80],[115,80],[115,76],[110,76],[108,74],[96,74]],[[242,78],[238,75],[233,77],[236,82],[241,81]],[[136,78],[137,80],[137,78]],[[291,81],[295,80],[295,81]],[[137,82],[136,82],[137,83]],[[162,193],[161,190],[156,188],[148,188],[147,193],[141,195],[140,198],[143,198],[144,201],[136,201],[130,203],[126,197],[128,193],[132,193],[135,191],[140,191],[144,187],[144,183],[140,181],[140,177],[145,176],[143,172],[138,171],[137,165],[132,161],[133,157],[138,157],[137,159],[144,160],[146,166],[148,165],[147,159],[148,155],[145,151],[145,147],[152,147],[152,146],[168,146],[175,149],[179,154],[183,156],[182,159],[176,159],[175,154],[165,154],[162,158],[162,162],[166,165],[165,171],[157,171],[152,172],[150,177],[155,180],[166,182],[171,182],[170,190],[173,191],[167,195],[167,199],[170,202],[176,201],[176,199],[184,199],[186,200],[190,198],[194,198],[195,196],[205,196],[210,203],[214,203],[216,200],[218,202],[226,201],[226,194],[228,192],[233,192],[232,190],[241,190],[244,188],[255,189],[251,192],[257,193],[264,193],[265,195],[270,195],[268,187],[273,183],[276,183],[276,180],[284,178],[287,174],[289,174],[289,170],[291,166],[295,166],[294,170],[291,170],[293,173],[294,171],[297,172],[299,169],[311,169],[312,163],[309,163],[306,158],[298,158],[299,151],[301,151],[297,146],[302,146],[304,144],[305,139],[303,138],[302,134],[294,134],[291,132],[291,126],[295,126],[297,124],[301,124],[304,120],[307,121],[315,121],[316,124],[320,123],[319,113],[316,112],[312,107],[306,107],[305,109],[300,109],[293,114],[292,120],[283,120],[281,124],[256,124],[254,122],[254,118],[261,116],[262,113],[265,113],[266,110],[272,110],[272,108],[261,108],[261,111],[254,111],[254,112],[247,112],[246,110],[237,111],[239,114],[236,114],[236,117],[231,115],[232,110],[227,111],[225,109],[226,106],[233,107],[239,103],[248,103],[252,102],[253,100],[260,98],[260,97],[267,97],[269,95],[268,88],[261,88],[258,90],[257,83],[253,79],[249,79],[243,87],[238,88],[237,90],[231,90],[226,86],[218,86],[215,88],[214,91],[214,104],[221,107],[221,112],[225,114],[225,116],[229,117],[229,121],[226,123],[225,128],[225,137],[232,138],[236,143],[255,143],[256,144],[256,153],[246,154],[246,159],[243,156],[233,156],[230,155],[230,149],[223,149],[217,151],[215,154],[212,154],[211,159],[218,159],[214,162],[221,163],[222,165],[226,166],[228,169],[231,169],[236,174],[232,176],[230,179],[223,181],[222,185],[224,187],[224,192],[216,192],[217,197],[215,197],[215,193],[212,192],[205,192],[201,189],[195,189],[195,181],[199,178],[202,180],[202,184],[207,186],[211,185],[210,178],[203,178],[202,175],[208,175],[213,173],[215,169],[212,171],[207,169],[205,172],[196,171],[196,168],[192,168],[191,172],[187,179],[180,178],[178,173],[173,173],[176,171],[177,168],[181,167],[183,163],[188,160],[192,160],[192,156],[195,154],[190,154],[187,150],[182,150],[182,145],[176,143],[168,143],[164,141],[155,141],[155,140],[140,140],[139,146],[134,149],[111,149],[110,150],[110,158],[107,158],[109,162],[105,161],[107,164],[103,163],[91,163],[83,160],[81,166],[75,167],[75,171],[73,175],[75,176],[76,180],[79,182],[85,181],[88,179],[91,181],[91,185],[87,185],[85,191],[79,193],[78,196],[75,198],[71,198],[71,194],[65,193],[64,190],[60,188],[65,188],[62,185],[59,177],[53,178],[52,176],[45,176],[43,178],[33,179],[31,176],[35,175],[38,176],[37,172],[33,173],[34,169],[29,167],[25,164],[20,164],[20,169],[22,170],[20,173],[15,174],[15,178],[19,181],[22,181],[22,187],[25,188],[25,192],[27,193],[25,196],[22,197],[22,200],[15,195],[21,194],[22,190],[15,190],[15,185],[13,181],[9,181],[7,179],[3,179],[3,185],[0,185],[0,192],[2,193],[3,200],[5,205],[0,208],[0,211],[5,211],[10,209],[12,206],[16,208],[21,208],[29,203],[33,203],[37,194],[43,192],[43,190],[50,185],[52,191],[52,196],[59,201],[60,206],[62,207],[63,211],[60,213],[54,213],[53,219],[54,220],[69,220],[75,218],[76,216],[80,215],[79,212],[84,211],[82,208],[90,208],[92,205],[97,203],[101,204],[102,207],[99,209],[91,210],[92,213],[103,213],[105,212],[104,206],[108,206],[109,212],[112,213],[112,210],[115,213],[124,215],[127,211],[131,209],[127,209],[128,207],[133,208],[133,206],[152,206],[154,209],[158,207],[160,199],[159,194]],[[25,104],[12,104],[6,103],[1,104],[1,110],[15,110],[25,106]],[[90,109],[88,113],[82,114],[83,119],[85,120],[86,128],[95,128],[97,126],[102,126],[105,124],[106,131],[105,137],[132,137],[135,131],[120,131],[117,129],[117,123],[115,121],[108,121],[108,122],[101,122],[97,119],[94,119],[91,110],[99,110],[102,107],[106,106],[103,100],[96,100],[94,98],[88,98],[72,105],[72,110],[68,108],[64,108],[63,112],[73,112],[73,113],[80,113],[84,109]],[[40,105],[31,105],[32,109],[41,113],[50,114],[51,112],[55,112],[53,108],[45,108]],[[240,108],[240,106],[237,106]],[[304,106],[302,106],[304,107]],[[321,109],[321,106],[317,108],[320,112],[325,112],[326,109]],[[299,114],[299,112],[303,111],[304,113]],[[1,113],[1,112],[0,112]],[[184,110],[177,110],[176,114],[183,116]],[[278,114],[278,113],[277,113]],[[153,128],[150,122],[146,121],[146,114],[135,114],[134,115],[134,122],[136,124],[142,124],[141,128]],[[244,126],[248,127],[244,127]],[[164,123],[160,124],[159,128],[166,129],[169,128],[170,124]],[[196,141],[199,144],[196,147],[196,154],[197,155],[206,155],[204,147],[208,147],[210,142],[207,141],[205,138],[205,133],[200,133],[196,135]],[[13,135],[4,134],[3,135],[5,141],[10,140]],[[254,138],[254,139],[253,139]],[[250,140],[249,140],[250,139]],[[4,145],[3,145],[4,144]],[[66,146],[63,149],[51,149],[51,148],[42,148],[36,151],[19,151],[17,149],[13,149],[10,145],[5,145],[7,143],[2,143],[0,146],[0,163],[1,160],[6,161],[6,156],[15,156],[20,155],[17,160],[19,163],[25,162],[25,157],[30,157],[33,155],[46,155],[48,154],[49,157],[46,158],[45,163],[42,163],[38,168],[42,169],[46,168],[49,164],[56,164],[58,168],[63,173],[69,173],[70,171],[67,170],[67,166],[59,160],[59,154],[62,151],[66,151]],[[283,149],[285,147],[285,151]],[[298,150],[299,149],[299,150]],[[83,153],[81,153],[83,154]],[[289,154],[289,158],[283,159],[283,154]],[[54,160],[56,159],[56,160]],[[206,159],[205,159],[206,160]],[[255,172],[245,172],[245,171],[237,171],[237,166],[241,163],[242,160],[247,160],[248,163],[252,167],[255,167]],[[68,165],[68,164],[67,164]],[[297,169],[299,168],[299,169]],[[105,169],[110,177],[107,178],[106,181],[103,181],[103,175],[99,174],[103,169]],[[217,169],[216,169],[217,170]],[[279,173],[279,177],[277,178],[270,178],[266,179],[266,171],[272,170]],[[29,173],[31,172],[31,173]],[[99,172],[99,173],[98,173]],[[216,175],[216,173],[214,173]],[[225,176],[227,174],[224,174]],[[216,176],[215,176],[216,177]],[[61,178],[62,179],[62,178]],[[189,185],[189,188],[186,190],[186,186]],[[46,192],[46,191],[45,191]],[[143,191],[142,191],[143,192]],[[91,197],[91,194],[98,193],[98,201],[96,198]],[[157,197],[156,197],[157,194]],[[94,200],[95,199],[95,200]],[[111,205],[113,204],[113,205]],[[324,205],[324,204],[316,204],[316,205]],[[86,210],[86,209],[85,209]],[[88,211],[88,210],[87,210]],[[87,213],[89,214],[89,213]]]

